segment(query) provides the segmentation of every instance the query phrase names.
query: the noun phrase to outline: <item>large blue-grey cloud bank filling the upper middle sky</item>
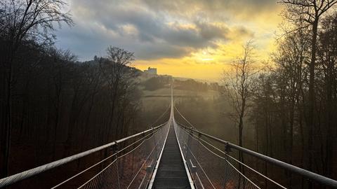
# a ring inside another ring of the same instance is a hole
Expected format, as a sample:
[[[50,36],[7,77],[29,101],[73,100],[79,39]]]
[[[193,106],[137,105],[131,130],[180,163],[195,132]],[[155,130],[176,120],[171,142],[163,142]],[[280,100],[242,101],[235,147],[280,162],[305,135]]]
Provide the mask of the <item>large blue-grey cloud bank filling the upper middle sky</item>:
[[[180,58],[217,48],[255,31],[231,20],[233,13],[252,14],[274,6],[271,0],[72,0],[76,26],[58,31],[58,43],[91,59],[108,45],[135,52],[136,59]],[[250,8],[251,10],[244,10]]]

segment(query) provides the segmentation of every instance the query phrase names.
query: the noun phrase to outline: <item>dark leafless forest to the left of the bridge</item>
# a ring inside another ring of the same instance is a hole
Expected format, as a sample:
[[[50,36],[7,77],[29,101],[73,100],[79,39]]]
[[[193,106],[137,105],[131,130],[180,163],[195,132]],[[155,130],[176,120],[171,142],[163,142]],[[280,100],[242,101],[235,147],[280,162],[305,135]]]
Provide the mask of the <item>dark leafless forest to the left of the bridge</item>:
[[[79,62],[54,45],[55,25],[74,24],[65,2],[27,2],[0,2],[1,178],[140,132],[169,104],[143,118],[133,52]]]

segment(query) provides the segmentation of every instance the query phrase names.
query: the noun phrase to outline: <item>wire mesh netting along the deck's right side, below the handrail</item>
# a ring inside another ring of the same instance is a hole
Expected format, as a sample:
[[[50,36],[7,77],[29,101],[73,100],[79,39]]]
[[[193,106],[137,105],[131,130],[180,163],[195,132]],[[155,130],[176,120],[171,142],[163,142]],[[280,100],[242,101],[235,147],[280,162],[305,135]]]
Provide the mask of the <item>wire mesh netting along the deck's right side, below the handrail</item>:
[[[228,162],[227,157],[214,153],[177,124],[175,130],[196,188],[258,188]]]

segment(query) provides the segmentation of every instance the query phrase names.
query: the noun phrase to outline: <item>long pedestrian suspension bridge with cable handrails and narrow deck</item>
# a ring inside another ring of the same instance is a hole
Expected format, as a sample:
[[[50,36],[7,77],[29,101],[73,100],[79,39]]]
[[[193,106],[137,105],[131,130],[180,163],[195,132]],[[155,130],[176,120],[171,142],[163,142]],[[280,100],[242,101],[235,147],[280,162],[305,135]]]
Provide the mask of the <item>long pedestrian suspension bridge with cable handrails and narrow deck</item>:
[[[272,188],[285,188],[277,181],[252,169],[249,165],[239,162],[231,155],[234,151],[242,151],[246,155],[251,155],[293,174],[303,176],[305,179],[321,184],[321,186],[337,188],[337,181],[200,132],[174,106],[173,94],[171,94],[171,106],[169,107],[171,107],[171,114],[166,123],[113,141],[110,144],[0,179],[0,188],[8,186],[15,188],[15,184],[22,180],[100,151],[108,152],[105,159],[70,176],[53,188],[223,189],[263,187],[256,180],[253,182],[248,176],[239,172],[234,163],[242,165],[251,173],[270,182]],[[176,122],[175,110],[176,116],[181,116],[190,124],[190,127]],[[93,176],[84,176],[93,169],[99,169],[99,171]],[[74,182],[79,177],[82,179]]]

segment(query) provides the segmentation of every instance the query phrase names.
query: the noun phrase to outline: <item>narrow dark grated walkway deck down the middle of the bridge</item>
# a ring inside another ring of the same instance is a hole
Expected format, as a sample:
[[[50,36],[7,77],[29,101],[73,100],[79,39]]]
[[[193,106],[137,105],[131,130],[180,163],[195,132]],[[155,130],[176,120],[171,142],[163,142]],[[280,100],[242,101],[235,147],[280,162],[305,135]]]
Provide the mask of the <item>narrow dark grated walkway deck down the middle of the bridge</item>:
[[[191,188],[181,157],[173,122],[152,188]]]

